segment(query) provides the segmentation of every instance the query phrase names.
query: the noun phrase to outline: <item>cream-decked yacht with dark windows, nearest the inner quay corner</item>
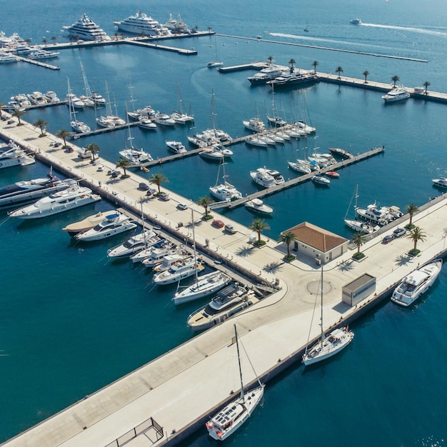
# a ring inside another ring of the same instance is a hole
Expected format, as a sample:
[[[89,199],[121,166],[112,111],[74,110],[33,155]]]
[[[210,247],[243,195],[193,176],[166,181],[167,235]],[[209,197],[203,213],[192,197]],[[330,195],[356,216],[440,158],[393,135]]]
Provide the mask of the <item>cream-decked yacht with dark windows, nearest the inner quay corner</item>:
[[[209,303],[191,313],[188,326],[194,332],[204,331],[222,323],[243,309],[253,306],[258,301],[253,290],[238,283],[231,283],[219,291]]]

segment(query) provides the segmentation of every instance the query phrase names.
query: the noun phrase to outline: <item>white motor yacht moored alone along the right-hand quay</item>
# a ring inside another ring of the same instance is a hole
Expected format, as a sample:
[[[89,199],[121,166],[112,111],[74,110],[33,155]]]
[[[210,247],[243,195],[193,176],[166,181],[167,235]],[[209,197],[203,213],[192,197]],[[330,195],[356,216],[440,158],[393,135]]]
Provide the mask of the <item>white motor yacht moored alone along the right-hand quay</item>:
[[[441,272],[442,264],[442,259],[435,259],[412,271],[394,289],[391,301],[401,306],[410,306],[433,285]]]

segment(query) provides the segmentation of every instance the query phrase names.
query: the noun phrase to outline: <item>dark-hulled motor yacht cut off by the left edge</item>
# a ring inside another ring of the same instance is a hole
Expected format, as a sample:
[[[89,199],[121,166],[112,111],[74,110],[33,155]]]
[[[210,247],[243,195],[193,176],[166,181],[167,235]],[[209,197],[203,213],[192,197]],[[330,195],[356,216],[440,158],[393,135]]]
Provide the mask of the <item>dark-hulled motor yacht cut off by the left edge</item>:
[[[63,191],[74,184],[76,180],[59,180],[51,171],[42,179],[17,181],[0,189],[0,209],[24,206],[54,192]]]

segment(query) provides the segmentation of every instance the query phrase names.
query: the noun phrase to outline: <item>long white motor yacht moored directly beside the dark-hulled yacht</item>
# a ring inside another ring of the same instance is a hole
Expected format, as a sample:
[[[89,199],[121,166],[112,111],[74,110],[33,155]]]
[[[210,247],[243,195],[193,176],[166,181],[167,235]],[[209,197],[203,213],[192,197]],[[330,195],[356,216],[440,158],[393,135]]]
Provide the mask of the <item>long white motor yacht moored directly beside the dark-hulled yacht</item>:
[[[93,194],[91,189],[76,184],[50,196],[42,197],[32,205],[11,211],[8,215],[19,219],[39,219],[79,208],[79,206],[93,204],[100,200],[101,196]]]

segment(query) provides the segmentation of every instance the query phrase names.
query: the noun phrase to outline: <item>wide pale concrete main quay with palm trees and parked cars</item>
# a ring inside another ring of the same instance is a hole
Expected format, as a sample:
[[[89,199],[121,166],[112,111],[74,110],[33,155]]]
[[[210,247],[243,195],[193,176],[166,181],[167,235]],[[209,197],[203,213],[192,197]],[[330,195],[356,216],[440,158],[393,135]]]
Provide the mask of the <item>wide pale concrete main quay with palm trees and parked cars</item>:
[[[52,135],[40,138],[39,129],[26,122],[23,126],[16,126],[0,121],[0,134],[6,140],[13,139],[34,151],[47,164],[78,177],[123,209],[139,209],[144,193],[138,190],[139,181],[143,180],[138,174],[130,173],[129,179],[110,179],[106,170],[96,171],[96,166],[80,160],[76,153],[67,154],[62,149],[50,147],[49,143],[58,139]],[[105,160],[101,163],[106,167],[113,166]],[[198,222],[201,222],[203,209],[178,194],[168,192],[171,195],[169,202],[144,199],[144,213],[148,219],[169,229],[171,236],[191,240],[191,228],[184,225],[190,216],[186,211],[177,210],[176,204],[179,201],[189,204]],[[398,238],[387,245],[381,243],[381,236],[391,233],[393,226],[408,223],[409,216],[406,215],[389,228],[384,228],[380,235],[366,241],[362,246],[366,255],[364,261],[353,261],[353,251],[348,251],[326,263],[325,281],[331,284],[331,288],[325,291],[323,298],[325,331],[350,323],[386,300],[401,278],[413,271],[416,265],[446,256],[443,231],[447,219],[446,205],[447,196],[444,194],[420,206],[420,211],[413,216],[413,223],[421,226],[427,235],[417,258],[408,255],[411,241],[406,238]],[[216,219],[220,217],[216,214]],[[253,368],[266,383],[266,389],[268,382],[278,373],[301,361],[313,313],[314,297],[309,286],[318,283],[320,267],[312,258],[298,253],[294,261],[285,262],[286,247],[282,243],[268,240],[263,248],[256,248],[248,242],[251,236],[248,228],[237,222],[228,223],[234,224],[236,234],[226,234],[203,222],[198,224],[196,242],[199,247],[206,249],[210,259],[219,260],[224,266],[229,267],[233,263],[246,269],[253,281],[258,278],[260,283],[270,284],[272,288],[278,283],[276,291],[252,308],[199,336],[191,337],[181,346],[85,396],[2,446],[118,447],[126,444],[129,447],[150,447],[175,445],[198,429],[206,433],[204,423],[209,416],[237,394],[228,373],[228,346],[231,346],[233,323],[236,321],[238,336],[246,351],[251,353]],[[281,268],[271,268],[275,264]],[[355,307],[342,303],[343,286],[365,273],[376,278],[375,293]],[[319,334],[318,321],[314,321],[311,339],[315,340]],[[244,378],[248,384],[256,381],[254,373],[248,370]],[[204,392],[206,390],[213,392]]]

